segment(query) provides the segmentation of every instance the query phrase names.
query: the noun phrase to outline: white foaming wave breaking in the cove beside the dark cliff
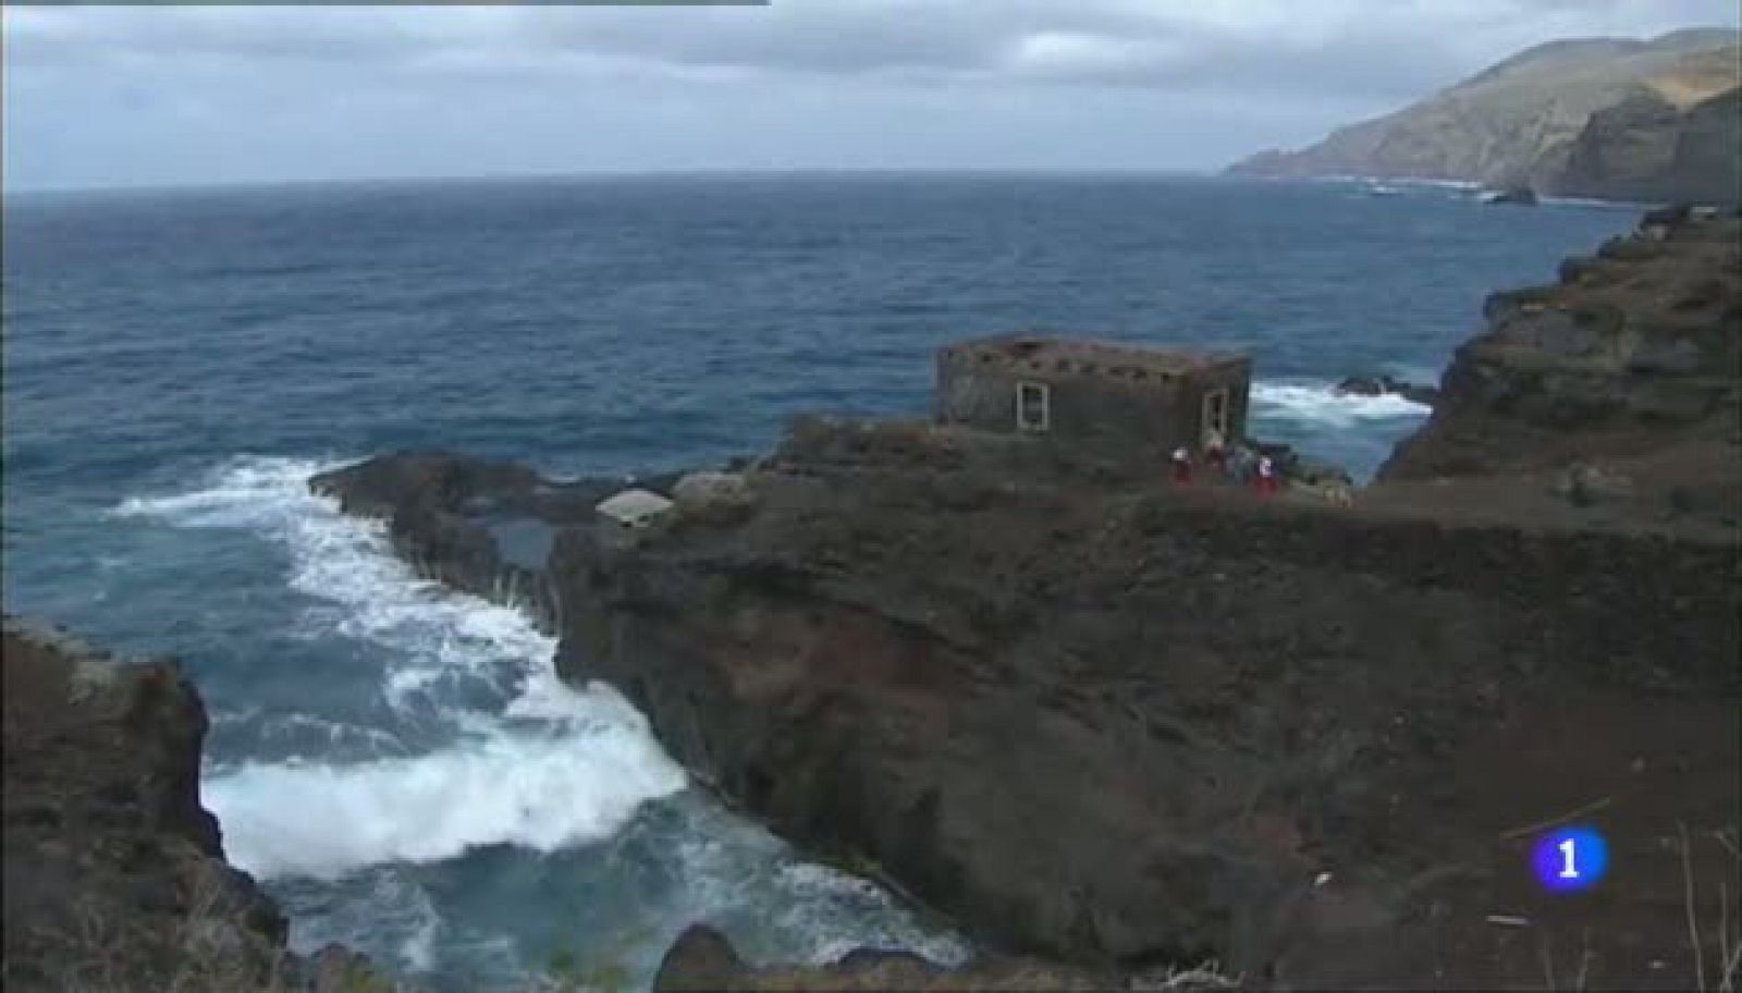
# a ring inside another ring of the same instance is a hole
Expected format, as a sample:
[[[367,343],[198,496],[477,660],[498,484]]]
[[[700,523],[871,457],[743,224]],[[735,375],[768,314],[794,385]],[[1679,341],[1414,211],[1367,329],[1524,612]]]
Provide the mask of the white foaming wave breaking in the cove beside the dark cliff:
[[[519,611],[418,578],[394,557],[380,523],[345,517],[308,493],[322,469],[237,460],[207,488],[115,510],[280,544],[291,587],[324,601],[319,615],[338,634],[390,648],[385,699],[395,707],[422,700],[462,728],[458,740],[420,756],[218,772],[204,791],[235,864],[265,878],[336,878],[484,845],[549,852],[608,838],[645,800],[683,789],[681,767],[627,700],[604,685],[563,683],[550,664],[554,639]],[[460,706],[456,679],[496,692]]]

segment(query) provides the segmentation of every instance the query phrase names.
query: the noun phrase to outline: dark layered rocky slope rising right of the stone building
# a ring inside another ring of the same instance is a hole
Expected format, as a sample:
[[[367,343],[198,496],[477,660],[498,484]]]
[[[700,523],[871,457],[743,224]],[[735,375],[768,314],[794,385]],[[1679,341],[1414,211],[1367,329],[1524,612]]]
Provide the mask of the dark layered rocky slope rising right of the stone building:
[[[1646,214],[1561,282],[1498,293],[1458,348],[1434,416],[1387,483],[1523,477],[1601,462],[1639,483],[1634,516],[1735,524],[1742,221]]]

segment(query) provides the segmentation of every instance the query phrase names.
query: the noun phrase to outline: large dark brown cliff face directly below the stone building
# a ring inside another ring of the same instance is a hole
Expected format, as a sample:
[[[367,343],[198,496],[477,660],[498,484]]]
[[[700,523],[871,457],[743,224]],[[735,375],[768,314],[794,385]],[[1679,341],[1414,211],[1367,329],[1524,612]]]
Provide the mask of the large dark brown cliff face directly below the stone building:
[[[561,671],[986,948],[1488,988],[1540,976],[1484,923],[1523,906],[1597,979],[1686,979],[1650,852],[1739,800],[1735,545],[1016,481],[901,425],[810,425],[749,486],[634,549],[563,530]],[[1503,834],[1601,796],[1629,882],[1542,899]]]

